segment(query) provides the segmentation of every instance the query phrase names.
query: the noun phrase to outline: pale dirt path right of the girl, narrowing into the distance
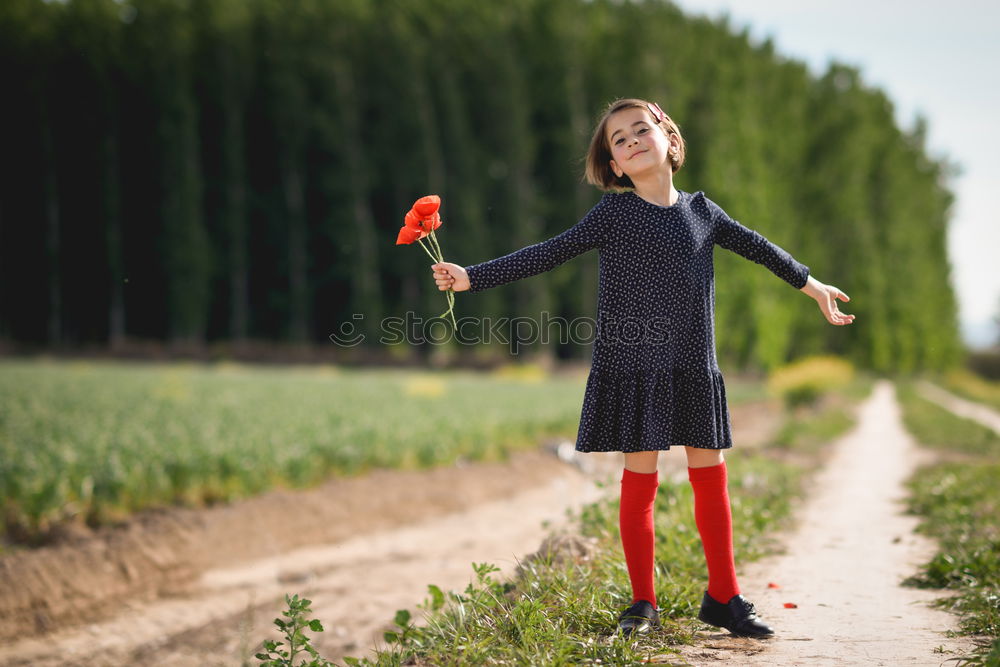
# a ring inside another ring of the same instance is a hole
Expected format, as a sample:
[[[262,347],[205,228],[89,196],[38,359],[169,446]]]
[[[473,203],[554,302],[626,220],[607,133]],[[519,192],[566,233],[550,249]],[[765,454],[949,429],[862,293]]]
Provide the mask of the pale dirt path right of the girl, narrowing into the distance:
[[[901,514],[903,483],[927,455],[903,429],[889,381],[876,384],[856,428],[833,447],[786,553],[741,573],[744,594],[777,636],[705,633],[685,654],[694,664],[939,665],[971,651],[968,639],[944,635],[955,618],[926,604],[939,593],[900,586],[935,548],[913,532],[917,518]]]

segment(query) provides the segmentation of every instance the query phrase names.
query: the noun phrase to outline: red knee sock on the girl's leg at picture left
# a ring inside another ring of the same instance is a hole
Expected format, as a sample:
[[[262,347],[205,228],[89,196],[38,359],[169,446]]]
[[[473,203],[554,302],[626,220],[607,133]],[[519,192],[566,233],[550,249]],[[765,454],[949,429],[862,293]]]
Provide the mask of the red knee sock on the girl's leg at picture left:
[[[632,603],[646,600],[656,606],[653,592],[653,501],[659,473],[622,471],[622,499],[618,522],[625,564],[632,582]]]

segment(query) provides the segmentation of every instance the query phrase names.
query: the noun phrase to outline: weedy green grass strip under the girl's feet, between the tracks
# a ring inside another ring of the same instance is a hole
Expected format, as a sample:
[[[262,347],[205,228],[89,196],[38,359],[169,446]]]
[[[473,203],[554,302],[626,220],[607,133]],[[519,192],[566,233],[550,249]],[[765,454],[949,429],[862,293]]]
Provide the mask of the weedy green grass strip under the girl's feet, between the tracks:
[[[859,381],[844,396],[864,397]],[[787,524],[795,499],[803,495],[806,475],[815,469],[822,447],[815,433],[830,438],[853,425],[844,404],[831,402],[813,415],[817,429],[801,416],[784,431],[781,448],[727,457],[733,511],[734,551],[743,563],[771,553],[770,536]],[[788,456],[789,451],[796,456]],[[573,533],[595,546],[587,555],[572,550],[522,563],[512,581],[494,576],[488,564],[474,565],[477,583],[464,592],[443,593],[435,586],[421,606],[423,624],[408,612],[397,614],[390,643],[371,658],[348,664],[388,665],[632,665],[669,663],[677,645],[693,641],[701,624],[694,620],[707,585],[704,554],[694,522],[693,496],[684,481],[663,480],[657,494],[656,585],[663,609],[661,630],[638,641],[619,637],[617,616],[631,600],[628,571],[618,534],[618,498],[585,506],[574,517]]]

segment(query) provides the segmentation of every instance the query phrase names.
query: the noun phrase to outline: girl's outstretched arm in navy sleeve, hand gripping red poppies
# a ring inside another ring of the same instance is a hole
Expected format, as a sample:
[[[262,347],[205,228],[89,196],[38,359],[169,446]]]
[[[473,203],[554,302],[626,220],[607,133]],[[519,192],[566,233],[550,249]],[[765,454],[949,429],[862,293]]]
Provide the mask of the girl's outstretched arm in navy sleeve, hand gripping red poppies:
[[[598,202],[578,223],[547,241],[463,268],[451,262],[432,264],[439,290],[479,292],[553,269],[604,244],[607,212]]]

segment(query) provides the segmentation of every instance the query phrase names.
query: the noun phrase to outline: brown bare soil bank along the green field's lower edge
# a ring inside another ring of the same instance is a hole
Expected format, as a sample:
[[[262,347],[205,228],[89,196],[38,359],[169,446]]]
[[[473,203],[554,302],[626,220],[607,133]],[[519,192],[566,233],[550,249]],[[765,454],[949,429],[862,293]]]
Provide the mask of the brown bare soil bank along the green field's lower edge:
[[[144,512],[57,545],[0,558],[0,639],[114,612],[123,599],[184,590],[210,568],[335,543],[455,512],[544,484],[566,465],[545,452],[426,471],[375,471],[306,491],[209,509]]]

